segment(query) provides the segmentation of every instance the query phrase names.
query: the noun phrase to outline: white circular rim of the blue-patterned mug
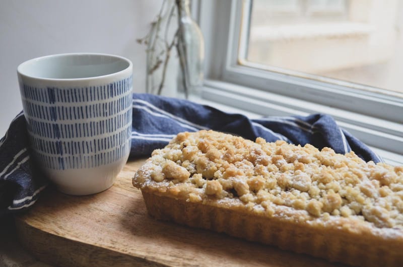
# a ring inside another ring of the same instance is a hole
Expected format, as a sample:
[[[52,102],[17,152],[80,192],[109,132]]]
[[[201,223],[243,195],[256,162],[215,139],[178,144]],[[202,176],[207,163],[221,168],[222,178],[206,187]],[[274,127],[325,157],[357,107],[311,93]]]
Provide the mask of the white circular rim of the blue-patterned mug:
[[[120,70],[118,72],[114,72],[114,73],[110,73],[110,74],[106,74],[106,75],[99,75],[99,76],[92,76],[92,77],[84,77],[84,78],[46,78],[46,77],[39,77],[39,76],[33,76],[33,75],[28,75],[25,74],[24,72],[22,72],[22,68],[24,68],[24,66],[29,65],[35,61],[38,60],[42,60],[42,59],[46,59],[46,58],[54,58],[54,57],[62,57],[62,56],[86,56],[86,55],[92,55],[92,56],[109,56],[112,58],[117,58],[120,60],[123,60],[125,62],[128,63],[128,66],[126,68],[124,68],[123,70]],[[71,81],[92,81],[92,80],[98,80],[100,78],[109,78],[112,76],[116,76],[119,74],[123,74],[124,72],[127,72],[128,70],[131,70],[133,67],[133,64],[131,62],[131,60],[123,57],[123,56],[119,56],[119,55],[114,55],[114,54],[107,54],[107,53],[87,53],[87,52],[77,52],[77,53],[60,53],[60,54],[51,54],[51,55],[45,55],[45,56],[39,56],[39,57],[35,57],[29,60],[26,60],[24,62],[22,62],[21,64],[18,65],[17,67],[17,73],[21,76],[27,77],[27,78],[31,78],[31,79],[35,79],[35,80],[41,80],[41,81],[55,81],[55,82],[71,82]]]

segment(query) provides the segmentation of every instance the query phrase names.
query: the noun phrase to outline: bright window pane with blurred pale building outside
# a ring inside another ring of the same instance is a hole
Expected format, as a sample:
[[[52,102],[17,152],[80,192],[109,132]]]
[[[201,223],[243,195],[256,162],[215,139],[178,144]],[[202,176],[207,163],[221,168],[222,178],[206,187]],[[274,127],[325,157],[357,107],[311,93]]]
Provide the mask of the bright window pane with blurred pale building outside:
[[[245,58],[240,62],[403,93],[403,2],[250,3],[248,40],[241,53]]]

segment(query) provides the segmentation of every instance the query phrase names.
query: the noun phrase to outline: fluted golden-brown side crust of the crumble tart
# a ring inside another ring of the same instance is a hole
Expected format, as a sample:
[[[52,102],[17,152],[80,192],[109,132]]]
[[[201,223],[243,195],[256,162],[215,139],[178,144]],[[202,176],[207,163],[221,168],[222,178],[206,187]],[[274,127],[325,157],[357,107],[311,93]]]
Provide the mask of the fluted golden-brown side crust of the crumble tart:
[[[402,266],[401,239],[340,231],[337,227],[301,227],[299,222],[250,215],[214,205],[143,191],[147,211],[159,220],[223,232],[330,261],[357,266]]]

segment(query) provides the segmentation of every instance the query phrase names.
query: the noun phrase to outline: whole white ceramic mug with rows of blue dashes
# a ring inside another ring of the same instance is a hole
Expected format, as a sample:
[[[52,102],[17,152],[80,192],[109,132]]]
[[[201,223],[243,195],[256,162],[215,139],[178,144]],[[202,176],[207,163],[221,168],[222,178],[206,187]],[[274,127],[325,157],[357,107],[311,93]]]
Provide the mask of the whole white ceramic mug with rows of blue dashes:
[[[18,66],[30,144],[57,188],[109,188],[130,152],[132,63],[108,54],[58,54]]]

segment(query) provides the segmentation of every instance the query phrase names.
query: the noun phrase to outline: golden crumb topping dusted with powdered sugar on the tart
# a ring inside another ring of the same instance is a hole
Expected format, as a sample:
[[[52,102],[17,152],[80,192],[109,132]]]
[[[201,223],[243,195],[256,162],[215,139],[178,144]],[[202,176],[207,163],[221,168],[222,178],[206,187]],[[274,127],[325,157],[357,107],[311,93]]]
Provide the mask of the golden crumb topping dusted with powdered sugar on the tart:
[[[250,209],[272,205],[313,217],[352,217],[403,229],[403,166],[366,163],[284,141],[256,142],[215,131],[179,133],[135,175],[135,185],[172,191],[190,202],[239,199]]]

